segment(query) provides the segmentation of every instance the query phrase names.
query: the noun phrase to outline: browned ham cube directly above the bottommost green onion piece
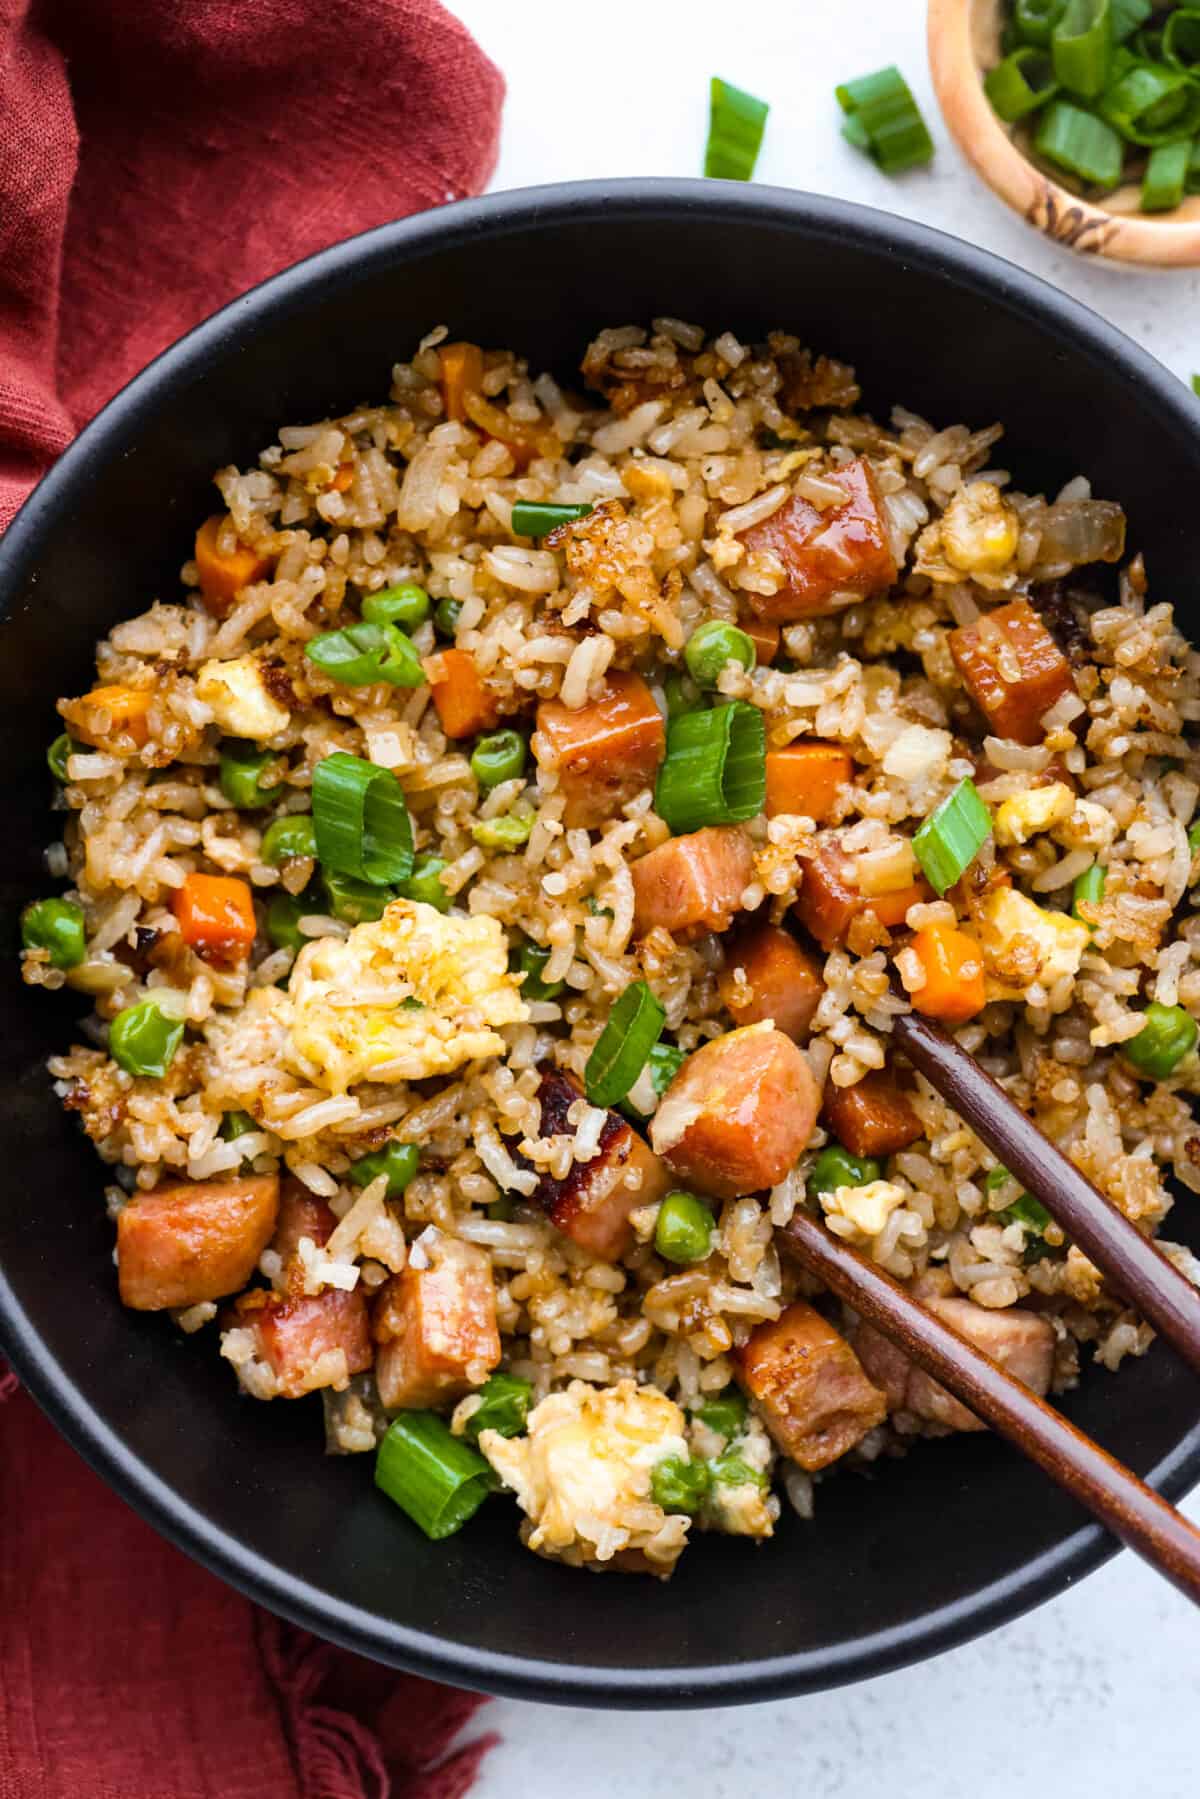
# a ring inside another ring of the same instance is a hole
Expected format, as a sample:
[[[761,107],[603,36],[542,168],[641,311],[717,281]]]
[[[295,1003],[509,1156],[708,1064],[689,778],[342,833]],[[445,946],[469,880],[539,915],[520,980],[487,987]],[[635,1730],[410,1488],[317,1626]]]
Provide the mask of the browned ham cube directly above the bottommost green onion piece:
[[[430,1266],[412,1261],[374,1302],[374,1376],[389,1410],[459,1400],[500,1360],[497,1286],[482,1249],[439,1238]]]

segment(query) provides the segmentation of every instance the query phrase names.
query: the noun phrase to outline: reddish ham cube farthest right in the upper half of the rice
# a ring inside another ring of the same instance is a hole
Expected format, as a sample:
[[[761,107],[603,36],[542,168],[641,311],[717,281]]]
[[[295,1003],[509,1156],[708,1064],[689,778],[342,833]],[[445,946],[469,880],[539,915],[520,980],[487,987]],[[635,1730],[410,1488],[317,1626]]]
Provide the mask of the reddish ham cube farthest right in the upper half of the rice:
[[[999,738],[1042,741],[1042,714],[1076,691],[1070,662],[1029,601],[1013,599],[950,631],[966,691]]]

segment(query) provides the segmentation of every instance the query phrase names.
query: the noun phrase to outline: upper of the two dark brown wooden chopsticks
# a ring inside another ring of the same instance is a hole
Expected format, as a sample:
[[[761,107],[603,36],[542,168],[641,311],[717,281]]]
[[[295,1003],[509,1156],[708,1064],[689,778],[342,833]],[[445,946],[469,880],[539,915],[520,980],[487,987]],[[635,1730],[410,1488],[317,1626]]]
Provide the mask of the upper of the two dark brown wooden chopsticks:
[[[1200,1292],[1042,1135],[991,1076],[919,1013],[892,1020],[892,1042],[1114,1286],[1200,1369]]]

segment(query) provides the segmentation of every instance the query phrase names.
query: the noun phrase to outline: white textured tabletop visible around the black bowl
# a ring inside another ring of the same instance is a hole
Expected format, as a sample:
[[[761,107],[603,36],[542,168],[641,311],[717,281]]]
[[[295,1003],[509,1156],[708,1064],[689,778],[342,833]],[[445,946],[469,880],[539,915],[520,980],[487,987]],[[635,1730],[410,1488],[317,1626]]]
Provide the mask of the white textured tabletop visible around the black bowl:
[[[1200,371],[1200,272],[1130,273],[1056,250],[975,180],[937,117],[919,0],[452,0],[452,11],[509,83],[495,187],[700,173],[707,79],[720,74],[772,104],[765,182],[982,243],[1105,313],[1180,376]],[[730,43],[714,50],[727,20]],[[833,101],[837,81],[891,61],[937,142],[934,167],[898,182],[842,142]],[[1200,1522],[1196,1495],[1186,1509]],[[579,1587],[587,1605],[585,1578]],[[669,1589],[648,1585],[646,1605],[664,1603]],[[477,1794],[1195,1799],[1198,1705],[1200,1617],[1123,1554],[1004,1630],[837,1693],[624,1714],[500,1700],[486,1723],[504,1743]]]

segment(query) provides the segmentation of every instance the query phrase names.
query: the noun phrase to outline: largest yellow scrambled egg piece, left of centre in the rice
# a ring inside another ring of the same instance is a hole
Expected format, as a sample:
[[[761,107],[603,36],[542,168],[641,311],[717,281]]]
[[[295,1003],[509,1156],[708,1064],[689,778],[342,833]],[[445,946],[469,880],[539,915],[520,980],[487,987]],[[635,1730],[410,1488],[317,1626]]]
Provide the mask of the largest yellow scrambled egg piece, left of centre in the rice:
[[[495,917],[452,917],[394,900],[349,937],[318,937],[295,959],[291,1052],[340,1094],[358,1081],[421,1081],[504,1054],[502,1024],[529,1007]]]

